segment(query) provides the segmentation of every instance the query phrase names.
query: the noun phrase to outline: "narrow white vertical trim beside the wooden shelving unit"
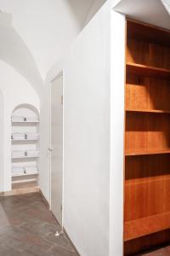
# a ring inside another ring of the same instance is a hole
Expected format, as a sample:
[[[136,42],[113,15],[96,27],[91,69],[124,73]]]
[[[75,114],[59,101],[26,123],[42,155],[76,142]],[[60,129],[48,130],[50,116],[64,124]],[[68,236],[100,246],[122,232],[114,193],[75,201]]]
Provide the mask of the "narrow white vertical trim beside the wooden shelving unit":
[[[110,256],[123,255],[125,21],[111,11]]]

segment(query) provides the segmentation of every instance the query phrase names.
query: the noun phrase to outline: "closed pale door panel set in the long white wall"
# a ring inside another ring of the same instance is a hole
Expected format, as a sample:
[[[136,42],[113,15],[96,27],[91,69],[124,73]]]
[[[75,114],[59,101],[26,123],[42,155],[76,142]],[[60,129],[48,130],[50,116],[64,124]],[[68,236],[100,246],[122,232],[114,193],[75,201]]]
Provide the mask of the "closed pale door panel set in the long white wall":
[[[51,211],[62,226],[63,74],[51,84]]]

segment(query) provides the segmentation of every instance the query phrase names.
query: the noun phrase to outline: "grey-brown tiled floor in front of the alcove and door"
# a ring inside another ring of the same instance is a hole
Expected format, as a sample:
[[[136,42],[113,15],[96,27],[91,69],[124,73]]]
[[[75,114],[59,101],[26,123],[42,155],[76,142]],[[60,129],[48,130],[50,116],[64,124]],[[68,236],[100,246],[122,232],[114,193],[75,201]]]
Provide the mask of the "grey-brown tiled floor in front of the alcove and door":
[[[77,256],[38,193],[0,197],[0,256]]]

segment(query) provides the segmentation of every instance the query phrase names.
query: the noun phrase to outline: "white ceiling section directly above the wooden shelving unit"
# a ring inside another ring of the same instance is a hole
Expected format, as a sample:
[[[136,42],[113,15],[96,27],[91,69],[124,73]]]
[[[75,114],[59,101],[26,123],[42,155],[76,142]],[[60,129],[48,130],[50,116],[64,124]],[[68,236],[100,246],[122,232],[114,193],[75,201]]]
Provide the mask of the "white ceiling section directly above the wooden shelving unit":
[[[116,11],[134,20],[170,29],[170,15],[167,11],[170,0],[122,0],[119,2],[114,8]]]

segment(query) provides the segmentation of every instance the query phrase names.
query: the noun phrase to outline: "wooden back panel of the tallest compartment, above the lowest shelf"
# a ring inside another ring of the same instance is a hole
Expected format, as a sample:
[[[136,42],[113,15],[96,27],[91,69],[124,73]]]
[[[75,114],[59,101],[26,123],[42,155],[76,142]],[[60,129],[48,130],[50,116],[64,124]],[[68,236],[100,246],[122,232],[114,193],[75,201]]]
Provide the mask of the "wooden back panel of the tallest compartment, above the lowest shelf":
[[[126,222],[170,212],[170,154],[127,157],[125,178]]]

